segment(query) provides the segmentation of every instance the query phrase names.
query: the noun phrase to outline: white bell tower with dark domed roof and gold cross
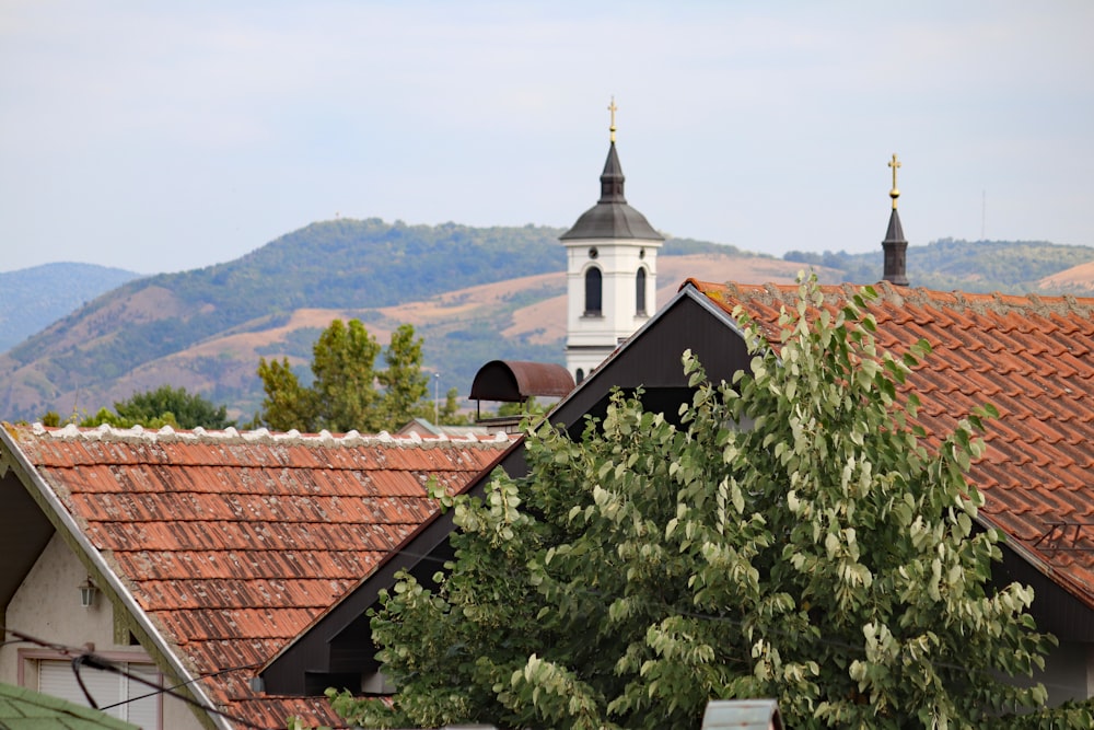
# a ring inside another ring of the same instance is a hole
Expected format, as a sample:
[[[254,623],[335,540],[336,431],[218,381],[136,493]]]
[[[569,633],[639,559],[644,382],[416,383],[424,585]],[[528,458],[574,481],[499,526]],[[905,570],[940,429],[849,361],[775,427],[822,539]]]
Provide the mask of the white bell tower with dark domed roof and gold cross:
[[[601,199],[561,235],[566,246],[566,368],[580,383],[656,309],[657,250],[664,237],[627,205],[615,149],[601,174]]]

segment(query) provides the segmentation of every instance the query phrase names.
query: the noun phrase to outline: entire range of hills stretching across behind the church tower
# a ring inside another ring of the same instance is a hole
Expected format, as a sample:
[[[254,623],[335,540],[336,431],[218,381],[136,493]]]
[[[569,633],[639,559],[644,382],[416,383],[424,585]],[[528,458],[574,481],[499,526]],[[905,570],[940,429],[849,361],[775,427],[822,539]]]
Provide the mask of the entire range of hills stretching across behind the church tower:
[[[456,386],[466,394],[489,360],[562,361],[561,233],[533,225],[340,219],[309,225],[234,262],[181,274],[135,279],[117,269],[83,268],[77,276],[92,293],[28,338],[16,333],[12,341],[19,344],[0,355],[0,372],[8,373],[0,382],[0,418],[35,419],[50,409],[62,417],[93,413],[164,383],[249,418],[261,399],[258,358],[289,357],[306,376],[312,343],[334,317],[362,320],[382,344],[398,324],[414,324],[424,337],[427,369],[440,373],[439,391]],[[882,257],[878,247],[874,254],[792,253],[777,259],[671,240],[657,262],[663,302],[689,276],[787,282],[813,266],[825,281],[874,282]],[[968,291],[1089,292],[1091,262],[1092,248],[1049,243],[942,241],[908,252],[913,285]],[[71,278],[71,266],[78,265],[38,268]],[[0,276],[18,280],[30,271],[42,275],[27,269]],[[120,286],[110,276],[121,276]],[[95,283],[108,291],[95,298]],[[13,285],[27,301],[11,300],[5,310],[26,311],[34,302],[42,309],[65,286]]]

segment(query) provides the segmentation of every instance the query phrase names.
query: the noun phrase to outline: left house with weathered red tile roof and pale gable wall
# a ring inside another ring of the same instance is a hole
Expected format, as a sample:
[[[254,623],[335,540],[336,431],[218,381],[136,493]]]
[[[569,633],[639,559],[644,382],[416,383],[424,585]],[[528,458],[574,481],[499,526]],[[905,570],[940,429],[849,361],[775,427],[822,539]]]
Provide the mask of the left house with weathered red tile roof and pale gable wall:
[[[126,719],[146,730],[243,727],[230,717],[337,727],[325,698],[264,692],[257,670],[434,513],[431,480],[462,489],[509,442],[5,426],[3,623],[183,685],[226,714],[160,696],[131,703],[147,691],[117,682],[96,694],[132,708],[140,717]],[[69,664],[56,647],[0,647],[0,681],[82,703]]]

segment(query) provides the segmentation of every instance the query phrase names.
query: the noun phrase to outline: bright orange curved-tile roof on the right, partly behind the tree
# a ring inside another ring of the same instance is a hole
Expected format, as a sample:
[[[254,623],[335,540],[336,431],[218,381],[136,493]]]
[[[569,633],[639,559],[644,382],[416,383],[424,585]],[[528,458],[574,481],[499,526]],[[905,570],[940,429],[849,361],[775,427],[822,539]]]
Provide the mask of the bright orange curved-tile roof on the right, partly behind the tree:
[[[770,341],[798,291],[687,283],[728,313],[743,305]],[[835,309],[859,288],[822,289]],[[899,355],[924,338],[933,348],[905,387],[919,395],[933,443],[974,407],[999,410],[969,475],[985,496],[981,520],[1094,607],[1094,299],[875,289],[878,345]]]

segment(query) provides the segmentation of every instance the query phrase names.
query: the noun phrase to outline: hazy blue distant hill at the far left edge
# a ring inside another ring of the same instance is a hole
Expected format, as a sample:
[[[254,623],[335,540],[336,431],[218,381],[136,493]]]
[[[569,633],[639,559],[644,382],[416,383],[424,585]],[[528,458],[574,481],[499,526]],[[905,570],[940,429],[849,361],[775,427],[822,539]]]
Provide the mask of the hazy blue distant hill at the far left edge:
[[[139,274],[95,264],[0,271],[0,352]]]

